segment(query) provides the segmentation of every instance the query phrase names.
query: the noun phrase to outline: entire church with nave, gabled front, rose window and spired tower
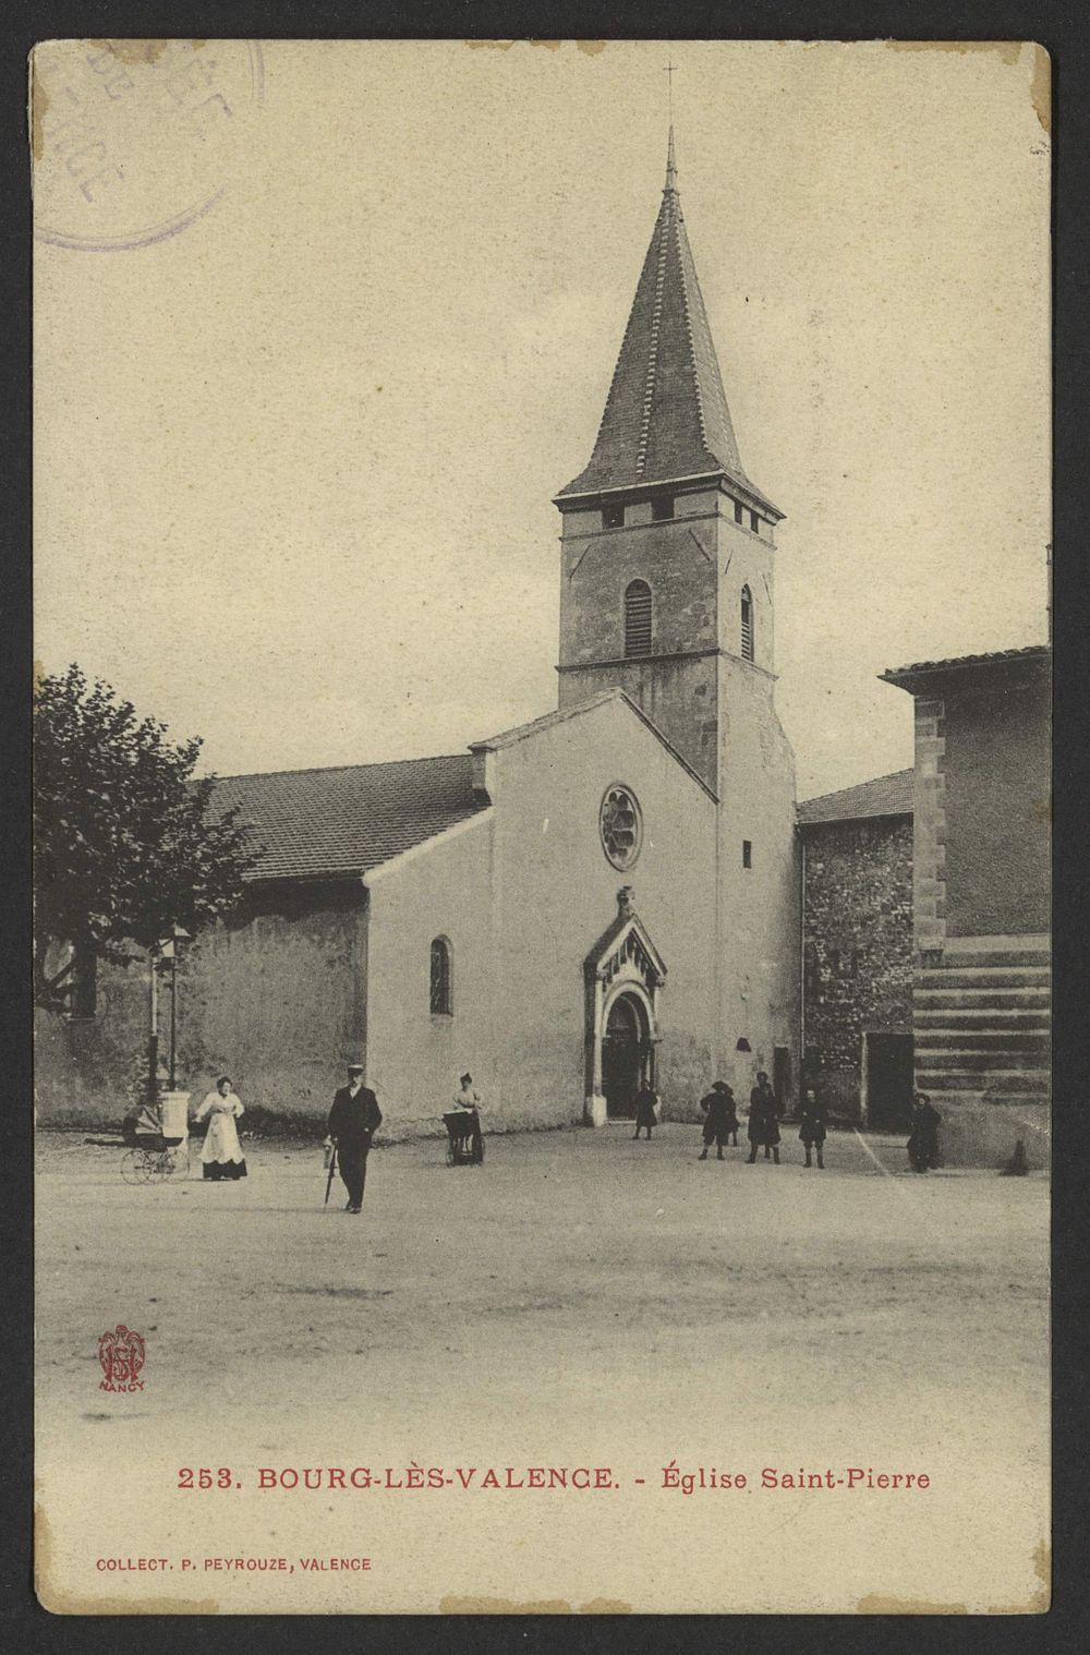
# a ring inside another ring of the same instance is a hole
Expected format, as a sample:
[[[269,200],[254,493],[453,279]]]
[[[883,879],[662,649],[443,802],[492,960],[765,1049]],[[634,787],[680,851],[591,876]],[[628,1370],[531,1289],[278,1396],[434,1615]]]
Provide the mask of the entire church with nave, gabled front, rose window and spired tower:
[[[600,1125],[653,1084],[797,1087],[794,760],[776,705],[782,511],[746,473],[673,136],[605,410],[559,490],[559,705],[463,753],[223,778],[263,847],[177,973],[179,1072],[321,1115],[366,1064],[392,1135],[471,1071],[495,1129]],[[40,1048],[48,1119],[132,1067],[147,986]],[[63,1049],[61,1049],[63,1048]]]

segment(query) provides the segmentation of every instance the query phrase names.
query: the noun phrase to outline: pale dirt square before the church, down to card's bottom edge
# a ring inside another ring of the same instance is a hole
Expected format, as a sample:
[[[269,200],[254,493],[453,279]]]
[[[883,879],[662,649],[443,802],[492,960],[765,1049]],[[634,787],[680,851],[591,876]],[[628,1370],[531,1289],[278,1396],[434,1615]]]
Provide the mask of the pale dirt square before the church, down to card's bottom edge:
[[[319,1147],[245,1149],[243,1183],[131,1188],[121,1149],[41,1135],[50,1607],[1045,1605],[1044,1175],[612,1125],[483,1168],[379,1147],[354,1218]],[[132,1394],[101,1389],[119,1322]]]

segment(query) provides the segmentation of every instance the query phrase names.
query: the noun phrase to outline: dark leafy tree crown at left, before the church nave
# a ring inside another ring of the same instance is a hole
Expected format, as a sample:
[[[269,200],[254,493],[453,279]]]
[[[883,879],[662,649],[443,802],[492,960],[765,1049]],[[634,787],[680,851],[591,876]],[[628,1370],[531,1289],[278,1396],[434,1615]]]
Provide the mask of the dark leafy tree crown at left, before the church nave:
[[[192,780],[200,740],[170,745],[76,665],[38,680],[33,710],[35,1001],[63,1010],[79,960],[127,965],[230,910],[258,847],[213,808],[215,778]]]

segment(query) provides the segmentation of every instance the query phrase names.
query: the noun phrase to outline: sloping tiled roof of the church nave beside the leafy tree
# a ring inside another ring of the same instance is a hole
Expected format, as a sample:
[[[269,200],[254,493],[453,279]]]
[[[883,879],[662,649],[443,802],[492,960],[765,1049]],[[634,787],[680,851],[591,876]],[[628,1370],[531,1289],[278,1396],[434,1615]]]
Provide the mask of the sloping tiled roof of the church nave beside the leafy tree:
[[[220,776],[212,808],[233,804],[265,847],[250,879],[316,879],[366,874],[486,801],[473,793],[473,755],[455,753]]]

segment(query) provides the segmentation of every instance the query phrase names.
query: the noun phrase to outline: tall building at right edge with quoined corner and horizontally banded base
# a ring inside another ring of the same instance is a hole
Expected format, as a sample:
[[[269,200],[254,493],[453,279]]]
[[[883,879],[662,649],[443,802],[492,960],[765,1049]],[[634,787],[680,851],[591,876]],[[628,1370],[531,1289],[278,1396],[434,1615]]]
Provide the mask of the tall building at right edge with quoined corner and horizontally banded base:
[[[1047,1158],[1052,650],[883,674],[915,702],[916,1086],[948,1160]]]

